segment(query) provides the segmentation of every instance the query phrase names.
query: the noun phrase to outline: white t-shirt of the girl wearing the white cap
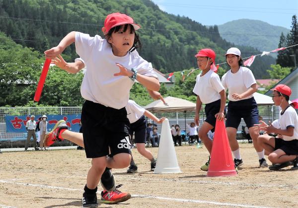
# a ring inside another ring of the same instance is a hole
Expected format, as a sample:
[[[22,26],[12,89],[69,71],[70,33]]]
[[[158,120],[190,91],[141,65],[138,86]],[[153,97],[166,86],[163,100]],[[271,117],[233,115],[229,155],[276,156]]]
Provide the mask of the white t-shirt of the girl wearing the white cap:
[[[228,89],[228,100],[229,101],[240,101],[232,98],[234,93],[242,94],[251,87],[251,85],[256,84],[256,80],[252,74],[252,71],[249,68],[240,66],[239,70],[236,73],[232,73],[231,70],[228,70],[222,77],[222,83],[225,90]],[[241,100],[252,98],[253,95],[245,97]]]

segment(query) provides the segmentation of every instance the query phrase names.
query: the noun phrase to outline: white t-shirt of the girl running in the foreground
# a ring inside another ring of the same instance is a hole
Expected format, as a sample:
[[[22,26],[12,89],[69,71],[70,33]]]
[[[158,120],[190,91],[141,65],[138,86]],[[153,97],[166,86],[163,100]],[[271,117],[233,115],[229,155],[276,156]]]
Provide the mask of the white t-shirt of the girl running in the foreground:
[[[155,77],[152,65],[138,52],[115,56],[111,45],[100,36],[75,32],[75,51],[84,60],[87,68],[81,85],[84,99],[108,107],[120,109],[128,103],[134,82],[127,76],[114,76],[120,71],[116,63],[127,69],[134,68],[139,74]]]

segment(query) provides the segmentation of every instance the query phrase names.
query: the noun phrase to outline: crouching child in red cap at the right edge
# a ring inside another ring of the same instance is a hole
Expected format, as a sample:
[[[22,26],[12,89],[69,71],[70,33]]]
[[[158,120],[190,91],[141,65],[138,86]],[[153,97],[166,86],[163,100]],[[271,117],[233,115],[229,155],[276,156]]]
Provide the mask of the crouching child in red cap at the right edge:
[[[298,115],[296,110],[289,104],[291,88],[287,85],[277,85],[273,91],[272,100],[275,105],[281,106],[278,124],[275,128],[271,123],[259,124],[260,130],[267,134],[258,138],[259,144],[269,153],[268,159],[272,162],[270,170],[279,170],[291,165],[298,169]],[[282,135],[282,138],[272,137],[268,134],[275,133]]]

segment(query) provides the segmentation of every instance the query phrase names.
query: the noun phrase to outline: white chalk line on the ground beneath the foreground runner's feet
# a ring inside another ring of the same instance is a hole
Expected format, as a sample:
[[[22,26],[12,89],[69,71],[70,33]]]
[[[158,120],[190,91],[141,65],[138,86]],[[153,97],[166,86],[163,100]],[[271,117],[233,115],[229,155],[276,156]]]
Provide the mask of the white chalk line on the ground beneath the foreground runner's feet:
[[[65,187],[58,187],[58,186],[48,186],[48,185],[42,185],[42,184],[18,183],[18,182],[14,182],[14,181],[6,181],[6,180],[0,180],[0,183],[10,183],[10,184],[16,184],[16,185],[42,187],[42,188],[49,188],[49,189],[60,189],[60,190],[62,189],[62,190],[68,190],[68,191],[80,191],[80,192],[82,192],[81,189],[72,189],[72,188],[65,188]],[[221,203],[221,202],[211,202],[211,201],[191,200],[191,199],[175,199],[175,198],[149,196],[149,195],[134,195],[133,194],[132,197],[142,197],[142,198],[151,198],[151,199],[177,201],[177,202],[190,202],[190,203],[198,203],[198,204],[211,204],[211,205],[229,206],[229,207],[268,208],[268,207],[252,206],[252,205],[231,204],[231,203]],[[12,208],[12,207],[8,207],[8,208]]]

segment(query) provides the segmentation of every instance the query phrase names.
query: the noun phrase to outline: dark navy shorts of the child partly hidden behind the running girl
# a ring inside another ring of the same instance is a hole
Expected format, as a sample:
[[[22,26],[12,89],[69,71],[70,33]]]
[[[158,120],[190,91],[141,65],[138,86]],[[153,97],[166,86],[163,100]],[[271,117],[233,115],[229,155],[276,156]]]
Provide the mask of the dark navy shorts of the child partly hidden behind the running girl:
[[[133,135],[135,132],[135,143],[146,143],[146,129],[147,120],[144,115],[134,123],[131,123],[129,134]]]

